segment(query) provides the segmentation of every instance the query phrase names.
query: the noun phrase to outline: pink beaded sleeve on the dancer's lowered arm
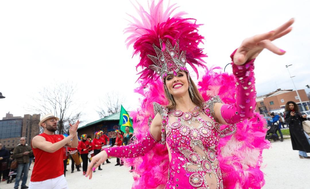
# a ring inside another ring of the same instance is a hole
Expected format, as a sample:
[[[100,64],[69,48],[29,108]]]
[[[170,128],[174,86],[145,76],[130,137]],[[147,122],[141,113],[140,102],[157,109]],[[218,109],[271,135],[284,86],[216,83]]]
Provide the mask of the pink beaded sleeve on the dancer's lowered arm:
[[[155,144],[157,144],[157,141],[153,138],[150,131],[148,131],[143,137],[143,140],[139,141],[137,144],[105,148],[104,150],[107,152],[108,157],[138,157],[144,156]]]

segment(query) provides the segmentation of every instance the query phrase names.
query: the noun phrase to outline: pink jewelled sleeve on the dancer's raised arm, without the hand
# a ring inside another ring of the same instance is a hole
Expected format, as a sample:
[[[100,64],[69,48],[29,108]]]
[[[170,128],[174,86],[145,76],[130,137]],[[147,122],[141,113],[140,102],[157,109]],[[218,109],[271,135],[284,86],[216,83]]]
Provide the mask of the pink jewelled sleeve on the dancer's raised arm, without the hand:
[[[237,49],[230,55],[233,55]],[[227,123],[237,123],[253,116],[255,109],[255,78],[254,78],[254,60],[246,62],[243,65],[236,65],[233,62],[232,72],[236,78],[236,103],[225,104],[221,107],[221,115]]]

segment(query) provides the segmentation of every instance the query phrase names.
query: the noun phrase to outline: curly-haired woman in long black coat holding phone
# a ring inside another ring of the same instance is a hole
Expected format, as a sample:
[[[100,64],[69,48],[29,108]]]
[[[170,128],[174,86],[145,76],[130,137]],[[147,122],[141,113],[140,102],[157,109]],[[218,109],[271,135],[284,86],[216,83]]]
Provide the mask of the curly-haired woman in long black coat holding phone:
[[[290,137],[293,150],[299,150],[299,157],[310,159],[310,137],[303,131],[302,122],[307,115],[301,116],[298,105],[293,101],[288,101],[285,105],[285,121],[289,124]]]

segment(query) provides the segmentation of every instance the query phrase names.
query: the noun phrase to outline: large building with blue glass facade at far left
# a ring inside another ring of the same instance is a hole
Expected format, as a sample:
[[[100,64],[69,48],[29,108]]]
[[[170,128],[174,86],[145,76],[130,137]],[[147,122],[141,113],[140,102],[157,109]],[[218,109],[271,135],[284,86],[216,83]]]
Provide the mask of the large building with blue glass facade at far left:
[[[0,120],[0,143],[7,149],[14,148],[20,143],[20,137],[26,137],[27,144],[39,134],[40,114],[24,114],[24,117],[6,114]]]

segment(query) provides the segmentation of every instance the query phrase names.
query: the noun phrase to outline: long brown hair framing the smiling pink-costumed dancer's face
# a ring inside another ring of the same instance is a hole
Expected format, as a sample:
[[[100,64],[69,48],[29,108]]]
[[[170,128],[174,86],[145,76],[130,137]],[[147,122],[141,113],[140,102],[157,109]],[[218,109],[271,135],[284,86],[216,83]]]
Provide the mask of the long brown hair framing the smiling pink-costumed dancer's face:
[[[185,73],[188,74],[187,72],[185,72]],[[196,105],[201,107],[202,103],[204,103],[205,100],[203,100],[201,94],[198,92],[198,89],[197,89],[196,85],[194,84],[191,76],[189,76],[189,82],[191,82],[191,84],[193,85],[193,89],[194,89],[193,90],[193,95],[194,95],[194,98],[192,99],[192,96],[191,96],[191,94],[189,92],[189,89],[188,89],[189,96],[190,96],[190,98],[191,98],[191,100],[193,101],[194,104],[196,104]],[[165,84],[166,84],[166,79],[165,79]],[[188,86],[189,86],[189,84],[188,84]],[[164,91],[165,91],[166,98],[169,100],[169,104],[166,106],[166,108],[168,108],[170,110],[175,109],[175,101],[174,101],[173,96],[172,96],[172,100],[170,100],[168,98],[168,94],[167,94],[166,90],[164,90]]]

